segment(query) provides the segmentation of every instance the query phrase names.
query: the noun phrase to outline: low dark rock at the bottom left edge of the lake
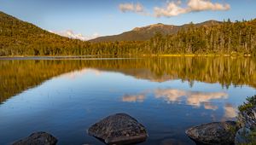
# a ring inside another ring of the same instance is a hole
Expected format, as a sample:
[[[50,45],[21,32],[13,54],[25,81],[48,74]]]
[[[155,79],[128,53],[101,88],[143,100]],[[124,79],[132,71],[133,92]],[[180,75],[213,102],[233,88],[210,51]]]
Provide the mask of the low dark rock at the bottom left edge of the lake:
[[[54,136],[46,132],[36,132],[13,145],[55,145],[57,142],[58,140]]]

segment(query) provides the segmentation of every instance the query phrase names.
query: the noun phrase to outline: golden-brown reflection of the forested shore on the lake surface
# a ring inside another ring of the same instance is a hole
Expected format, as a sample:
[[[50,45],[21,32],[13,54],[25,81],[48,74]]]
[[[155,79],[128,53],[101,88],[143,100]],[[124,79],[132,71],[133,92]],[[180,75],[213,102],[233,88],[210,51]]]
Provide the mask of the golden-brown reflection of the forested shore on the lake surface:
[[[124,73],[149,81],[172,79],[219,83],[223,87],[247,84],[256,88],[254,57],[166,57],[117,60],[0,61],[0,103],[62,73],[86,68]],[[18,72],[18,73],[17,73]]]

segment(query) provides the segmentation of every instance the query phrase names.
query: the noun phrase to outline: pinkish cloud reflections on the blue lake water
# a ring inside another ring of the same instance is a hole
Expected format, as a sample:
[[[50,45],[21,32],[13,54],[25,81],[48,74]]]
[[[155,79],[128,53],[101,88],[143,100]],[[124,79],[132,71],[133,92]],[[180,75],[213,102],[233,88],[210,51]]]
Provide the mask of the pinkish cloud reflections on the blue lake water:
[[[145,93],[146,92],[146,93]],[[167,103],[186,102],[193,107],[203,106],[205,109],[217,110],[218,106],[212,105],[212,100],[227,99],[228,94],[225,92],[201,92],[177,89],[156,89],[144,91],[138,95],[125,95],[122,97],[123,102],[143,102],[147,94],[153,93],[156,99],[164,99]],[[226,113],[234,116],[229,106],[226,106]],[[227,115],[228,116],[228,115]]]

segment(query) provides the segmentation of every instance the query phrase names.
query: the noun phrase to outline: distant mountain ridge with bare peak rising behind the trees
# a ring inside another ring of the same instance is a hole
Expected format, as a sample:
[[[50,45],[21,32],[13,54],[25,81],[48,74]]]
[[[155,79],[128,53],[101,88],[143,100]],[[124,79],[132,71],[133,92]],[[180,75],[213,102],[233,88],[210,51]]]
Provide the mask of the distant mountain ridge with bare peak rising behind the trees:
[[[207,20],[202,23],[195,24],[195,27],[199,26],[213,26],[220,24],[217,20]],[[161,34],[175,34],[181,29],[189,28],[191,24],[185,24],[183,26],[173,26],[165,24],[154,24],[150,26],[136,27],[130,32],[123,32],[119,35],[100,37],[90,40],[90,42],[115,42],[115,41],[144,41],[153,38],[156,33]]]

